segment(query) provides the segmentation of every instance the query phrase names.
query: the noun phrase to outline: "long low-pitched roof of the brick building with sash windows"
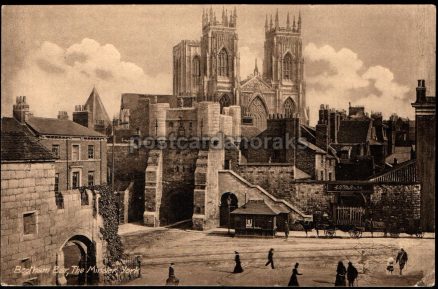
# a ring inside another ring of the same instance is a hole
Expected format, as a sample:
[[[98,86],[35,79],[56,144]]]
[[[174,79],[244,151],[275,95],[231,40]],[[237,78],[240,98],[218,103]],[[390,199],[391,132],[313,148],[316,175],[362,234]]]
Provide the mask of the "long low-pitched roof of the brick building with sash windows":
[[[26,124],[39,135],[106,137],[71,120],[30,117]]]

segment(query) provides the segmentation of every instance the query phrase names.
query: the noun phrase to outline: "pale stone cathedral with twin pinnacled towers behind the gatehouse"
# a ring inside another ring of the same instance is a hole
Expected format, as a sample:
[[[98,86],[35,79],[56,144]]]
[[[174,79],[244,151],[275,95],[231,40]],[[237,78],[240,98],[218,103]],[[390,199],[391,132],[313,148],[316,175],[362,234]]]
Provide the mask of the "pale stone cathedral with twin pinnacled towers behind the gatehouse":
[[[302,55],[301,15],[286,26],[265,20],[263,71],[257,60],[254,73],[240,80],[240,55],[237,34],[237,12],[223,10],[221,21],[210,8],[202,15],[200,41],[183,40],[173,48],[173,94],[179,107],[195,102],[219,102],[224,107],[238,105],[242,118],[261,131],[269,115],[297,116],[308,125],[304,59]]]

